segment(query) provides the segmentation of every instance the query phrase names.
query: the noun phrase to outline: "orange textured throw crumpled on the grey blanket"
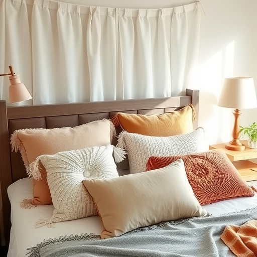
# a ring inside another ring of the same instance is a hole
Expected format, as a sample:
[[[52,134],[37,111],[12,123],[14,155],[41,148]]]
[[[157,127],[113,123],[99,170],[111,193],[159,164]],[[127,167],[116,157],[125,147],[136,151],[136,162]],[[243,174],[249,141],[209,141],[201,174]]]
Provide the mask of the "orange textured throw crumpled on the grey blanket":
[[[237,257],[257,256],[257,220],[241,226],[226,226],[220,238]]]

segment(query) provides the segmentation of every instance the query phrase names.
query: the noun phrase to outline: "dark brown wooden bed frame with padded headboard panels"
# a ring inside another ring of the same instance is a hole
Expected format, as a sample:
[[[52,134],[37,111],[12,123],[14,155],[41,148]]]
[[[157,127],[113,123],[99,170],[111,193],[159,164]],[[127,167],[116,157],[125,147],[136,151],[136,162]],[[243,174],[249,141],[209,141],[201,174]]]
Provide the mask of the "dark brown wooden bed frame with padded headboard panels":
[[[146,115],[161,114],[180,109],[189,103],[192,103],[196,111],[194,121],[194,128],[196,128],[198,126],[199,90],[193,89],[186,89],[184,96],[68,104],[6,107],[5,100],[0,100],[0,183],[6,245],[9,245],[11,228],[11,205],[7,188],[15,181],[27,177],[20,153],[11,152],[10,137],[15,130],[74,127],[97,119],[112,118],[117,111]]]

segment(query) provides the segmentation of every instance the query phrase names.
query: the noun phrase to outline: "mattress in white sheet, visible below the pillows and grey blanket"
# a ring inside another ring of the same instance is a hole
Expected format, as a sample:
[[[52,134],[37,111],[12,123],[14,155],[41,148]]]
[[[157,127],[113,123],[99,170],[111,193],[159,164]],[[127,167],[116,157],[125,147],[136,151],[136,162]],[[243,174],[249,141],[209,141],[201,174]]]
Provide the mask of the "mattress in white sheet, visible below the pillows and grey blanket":
[[[257,188],[257,181],[248,184]],[[35,228],[34,224],[39,219],[49,219],[52,216],[54,207],[53,205],[37,206],[31,209],[20,207],[23,199],[33,197],[32,184],[29,178],[20,179],[10,185],[8,195],[12,206],[12,228],[8,257],[25,257],[27,248],[36,246],[44,239],[54,239],[65,235],[81,235],[83,233],[100,234],[102,231],[103,226],[99,216],[55,223],[54,228],[48,228],[47,226]],[[221,215],[256,206],[257,194],[255,193],[253,197],[234,198],[204,205],[203,207],[212,215]]]

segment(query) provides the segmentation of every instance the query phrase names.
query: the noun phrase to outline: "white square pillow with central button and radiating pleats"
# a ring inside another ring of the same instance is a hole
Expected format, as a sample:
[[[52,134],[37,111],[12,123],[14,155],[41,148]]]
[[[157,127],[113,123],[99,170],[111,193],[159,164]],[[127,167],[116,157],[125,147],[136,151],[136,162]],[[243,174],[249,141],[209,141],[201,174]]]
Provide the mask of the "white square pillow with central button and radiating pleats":
[[[118,177],[112,157],[117,154],[112,145],[42,155],[29,166],[29,174],[39,179],[39,169],[44,166],[53,200],[54,212],[49,220],[40,220],[36,227],[54,222],[97,215],[91,196],[83,186],[85,179]],[[120,151],[120,150],[118,150]]]

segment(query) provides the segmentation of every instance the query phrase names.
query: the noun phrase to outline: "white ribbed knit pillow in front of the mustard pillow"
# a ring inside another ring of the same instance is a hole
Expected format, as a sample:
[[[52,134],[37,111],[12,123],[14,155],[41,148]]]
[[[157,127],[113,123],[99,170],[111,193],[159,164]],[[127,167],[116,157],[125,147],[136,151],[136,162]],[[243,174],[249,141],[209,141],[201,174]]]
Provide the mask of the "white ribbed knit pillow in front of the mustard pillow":
[[[146,171],[151,156],[187,155],[208,150],[202,127],[188,134],[170,137],[151,137],[122,132],[118,136],[117,147],[127,150],[130,173]]]

